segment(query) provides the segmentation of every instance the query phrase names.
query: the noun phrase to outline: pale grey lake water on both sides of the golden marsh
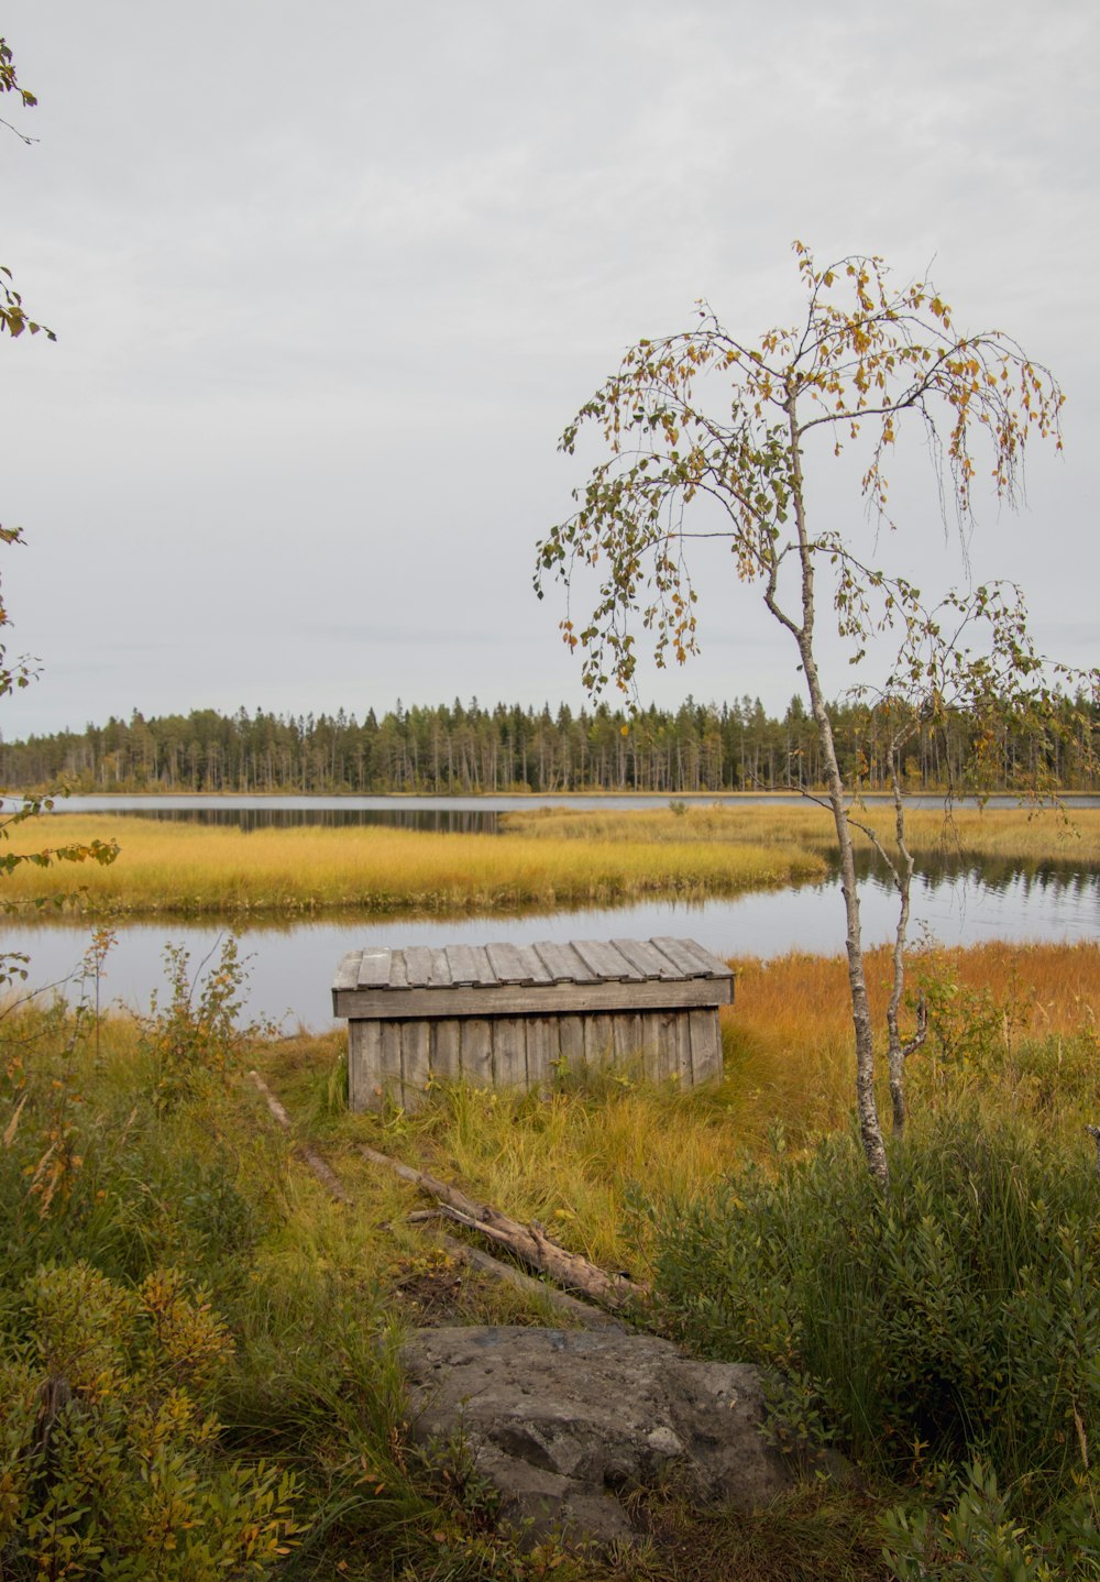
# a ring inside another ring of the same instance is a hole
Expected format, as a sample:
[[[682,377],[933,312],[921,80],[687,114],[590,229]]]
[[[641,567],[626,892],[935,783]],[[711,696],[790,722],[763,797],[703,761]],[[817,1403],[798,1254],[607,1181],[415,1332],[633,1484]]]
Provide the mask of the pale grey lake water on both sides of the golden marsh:
[[[674,799],[684,800],[684,799]],[[698,802],[790,802],[790,796],[700,797]],[[1095,807],[1095,797],[1067,799]],[[73,796],[57,812],[127,813],[234,824],[241,829],[296,824],[391,824],[412,829],[495,834],[499,813],[533,807],[666,807],[666,796],[590,797],[212,797],[212,796]],[[994,799],[1015,805],[1010,797]],[[935,797],[913,797],[913,807],[939,807]],[[897,902],[893,889],[864,862],[861,881],[864,941],[891,938]],[[49,919],[0,927],[0,951],[32,956],[30,984],[71,982],[89,944],[90,924]],[[171,921],[125,922],[106,963],[103,993],[130,1006],[146,1006],[163,984],[165,943],[180,944],[192,965],[217,952],[225,924]],[[988,862],[962,869],[939,864],[913,881],[910,938],[927,930],[943,944],[983,940],[1048,941],[1100,938],[1100,875],[1072,864],[1024,869]],[[654,902],[559,911],[551,914],[369,921],[343,916],[324,922],[255,924],[236,930],[250,959],[248,1009],[253,1016],[293,1027],[323,1028],[332,1020],[329,984],[345,951],[364,944],[484,944],[510,940],[651,938],[687,935],[715,956],[782,956],[787,951],[836,954],[844,949],[844,911],[836,880],[733,900]]]

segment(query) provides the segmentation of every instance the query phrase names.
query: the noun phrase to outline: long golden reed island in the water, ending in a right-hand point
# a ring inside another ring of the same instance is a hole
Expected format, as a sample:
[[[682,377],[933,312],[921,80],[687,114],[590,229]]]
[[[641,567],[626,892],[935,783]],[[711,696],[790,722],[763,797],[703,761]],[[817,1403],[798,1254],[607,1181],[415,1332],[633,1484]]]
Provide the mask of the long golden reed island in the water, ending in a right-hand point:
[[[3,899],[32,905],[52,888],[109,914],[505,911],[639,895],[730,895],[820,878],[825,862],[798,842],[707,842],[684,832],[633,840],[443,835],[404,829],[263,829],[245,834],[157,819],[55,815],[51,845],[117,840],[109,867],[16,869]]]

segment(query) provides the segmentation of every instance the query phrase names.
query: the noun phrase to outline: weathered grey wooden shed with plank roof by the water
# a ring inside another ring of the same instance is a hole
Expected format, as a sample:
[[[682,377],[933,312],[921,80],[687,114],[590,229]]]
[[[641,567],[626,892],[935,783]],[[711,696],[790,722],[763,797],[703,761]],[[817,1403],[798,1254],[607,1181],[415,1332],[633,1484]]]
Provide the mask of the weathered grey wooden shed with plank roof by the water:
[[[719,1006],[733,971],[693,940],[350,951],[332,984],[348,1019],[351,1109],[405,1109],[432,1079],[540,1088],[587,1063],[677,1077],[722,1071]]]

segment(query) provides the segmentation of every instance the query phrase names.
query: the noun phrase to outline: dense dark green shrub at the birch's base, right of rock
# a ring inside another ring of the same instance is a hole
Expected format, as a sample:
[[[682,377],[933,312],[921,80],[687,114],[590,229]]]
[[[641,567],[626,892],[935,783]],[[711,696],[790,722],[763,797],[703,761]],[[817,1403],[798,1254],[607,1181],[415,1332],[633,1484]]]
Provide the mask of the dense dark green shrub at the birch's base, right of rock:
[[[655,1297],[693,1349],[796,1381],[799,1413],[893,1476],[988,1459],[1038,1506],[1100,1443],[1100,1180],[1092,1160],[977,1118],[891,1150],[850,1137],[649,1205]]]

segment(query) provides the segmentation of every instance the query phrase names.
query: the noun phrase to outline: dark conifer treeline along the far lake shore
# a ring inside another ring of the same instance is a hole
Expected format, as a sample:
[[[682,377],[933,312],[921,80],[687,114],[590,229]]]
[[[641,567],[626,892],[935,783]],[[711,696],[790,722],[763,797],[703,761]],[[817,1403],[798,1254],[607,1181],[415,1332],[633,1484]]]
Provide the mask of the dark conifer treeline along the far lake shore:
[[[1067,720],[1081,704],[1067,702]],[[867,789],[886,789],[888,721],[880,710],[834,706],[840,763]],[[1084,715],[1064,739],[1005,729],[983,755],[984,789],[1011,789],[1045,767],[1067,789],[1095,789],[1083,769]],[[973,748],[973,725],[953,717],[907,744],[905,785],[959,783]],[[188,715],[127,720],[25,742],[0,744],[0,783],[30,789],[66,782],[76,791],[651,791],[658,794],[818,786],[814,721],[801,699],[769,718],[760,699],[698,704],[633,715],[598,704],[556,713],[449,707],[397,707],[378,718],[336,715]]]

